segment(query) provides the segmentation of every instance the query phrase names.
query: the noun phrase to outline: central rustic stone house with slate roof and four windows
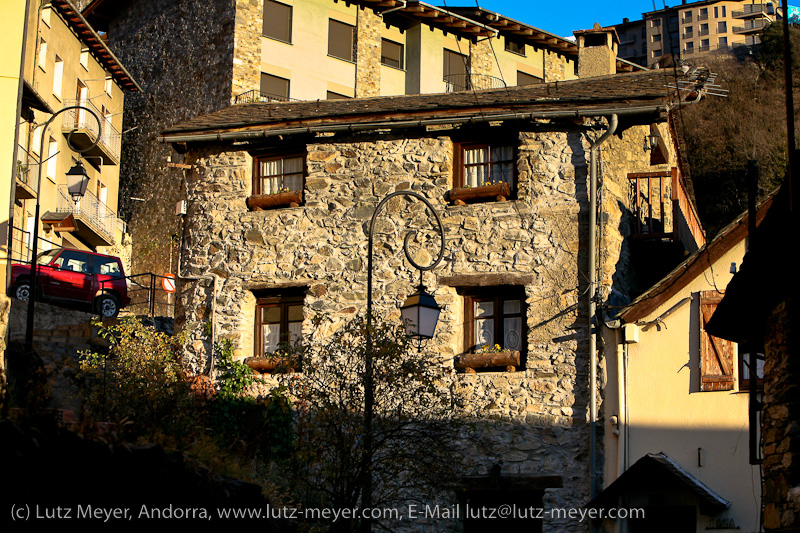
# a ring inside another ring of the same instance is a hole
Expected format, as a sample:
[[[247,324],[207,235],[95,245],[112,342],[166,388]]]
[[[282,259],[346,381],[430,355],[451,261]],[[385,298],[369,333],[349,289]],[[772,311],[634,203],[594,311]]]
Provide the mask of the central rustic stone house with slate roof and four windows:
[[[447,240],[425,278],[443,307],[424,346],[431,364],[457,367],[485,344],[519,352],[519,363],[454,374],[494,420],[465,451],[465,474],[493,472],[493,486],[513,485],[520,505],[583,506],[602,464],[594,302],[629,294],[627,238],[645,233],[643,213],[645,226],[662,224],[652,233],[659,239],[669,234],[689,249],[702,239],[679,198],[669,125],[690,93],[671,89],[670,76],[248,103],[169,128],[159,140],[190,166],[178,321],[210,322],[246,359],[312,333],[315,316],[334,328],[364,313],[365,225],[387,194],[416,191],[440,213]],[[653,132],[660,136],[647,150]],[[674,179],[661,189],[635,185],[653,172]],[[418,281],[401,243],[406,228],[427,227],[423,207],[393,201],[378,219],[374,308],[385,320],[399,320]],[[417,253],[427,264],[433,252]],[[209,339],[198,334],[189,350],[207,371]],[[540,526],[588,527],[556,518]]]

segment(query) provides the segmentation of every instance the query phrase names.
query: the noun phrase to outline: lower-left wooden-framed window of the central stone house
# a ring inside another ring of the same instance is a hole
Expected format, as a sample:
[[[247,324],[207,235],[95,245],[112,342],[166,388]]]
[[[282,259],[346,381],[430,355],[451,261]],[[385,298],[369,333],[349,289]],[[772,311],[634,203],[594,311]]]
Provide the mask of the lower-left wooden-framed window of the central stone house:
[[[255,356],[271,356],[292,346],[303,332],[302,291],[256,294]]]

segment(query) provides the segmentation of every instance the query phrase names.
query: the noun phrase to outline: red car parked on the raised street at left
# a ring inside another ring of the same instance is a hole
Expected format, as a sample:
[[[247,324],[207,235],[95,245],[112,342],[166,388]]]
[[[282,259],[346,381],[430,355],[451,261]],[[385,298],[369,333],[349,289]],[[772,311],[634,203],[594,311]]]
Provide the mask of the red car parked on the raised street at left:
[[[56,248],[39,254],[36,262],[39,264],[37,300],[90,305],[105,318],[117,316],[131,301],[119,257]],[[20,300],[30,298],[30,265],[11,265],[10,287],[10,296]]]

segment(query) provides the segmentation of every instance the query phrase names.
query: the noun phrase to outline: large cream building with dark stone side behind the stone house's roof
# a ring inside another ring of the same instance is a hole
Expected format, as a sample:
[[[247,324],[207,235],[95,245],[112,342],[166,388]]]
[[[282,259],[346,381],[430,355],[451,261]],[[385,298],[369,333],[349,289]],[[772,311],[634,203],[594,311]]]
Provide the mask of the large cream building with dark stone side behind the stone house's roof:
[[[151,141],[181,120],[235,102],[445,93],[577,76],[574,42],[483,9],[418,0],[84,4],[145,88],[129,100],[126,123],[137,129],[126,138],[124,164],[146,200],[136,206],[134,233],[164,250],[178,232],[174,206],[184,184],[180,170],[166,167],[166,147]],[[160,197],[151,198],[156,190]]]

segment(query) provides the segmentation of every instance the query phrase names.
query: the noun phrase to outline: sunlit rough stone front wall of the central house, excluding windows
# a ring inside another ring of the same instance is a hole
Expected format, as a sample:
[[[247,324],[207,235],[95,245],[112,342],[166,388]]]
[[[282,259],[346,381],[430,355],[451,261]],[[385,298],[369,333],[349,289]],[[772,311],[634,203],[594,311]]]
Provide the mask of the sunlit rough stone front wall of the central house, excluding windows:
[[[620,206],[628,201],[627,172],[651,170],[641,148],[644,130],[634,127],[609,140],[600,166],[606,211],[600,217],[606,241],[601,279],[620,292],[625,288],[615,274],[625,264],[620,233],[627,213]],[[580,506],[589,495],[587,157],[590,139],[599,133],[571,123],[516,131],[517,198],[450,205],[451,135],[497,133],[316,139],[306,146],[305,205],[268,211],[248,211],[245,205],[251,194],[250,153],[224,147],[190,152],[195,170],[188,178],[181,315],[186,321],[213,319],[216,335],[231,339],[236,356],[243,358],[253,354],[253,291],[303,287],[303,331],[312,333],[313,318],[325,315],[327,329],[316,332],[324,337],[365,310],[365,232],[378,200],[393,191],[415,190],[442,215],[447,236],[444,261],[425,280],[444,307],[436,337],[426,347],[432,362],[451,367],[463,351],[459,289],[516,285],[527,303],[524,370],[453,378],[469,404],[495,420],[482,429],[477,443],[467,445],[464,456],[473,462],[465,465],[465,473],[486,474],[499,464],[503,474],[560,475],[564,488],[548,491],[545,504]],[[398,306],[417,283],[402,238],[407,228],[419,228],[423,235],[430,228],[423,211],[423,204],[398,198],[376,224],[374,304],[385,320],[399,320]],[[427,264],[435,252],[419,248],[414,253]],[[206,366],[207,340],[198,336],[191,343],[198,368]],[[585,526],[551,523],[546,530]]]

